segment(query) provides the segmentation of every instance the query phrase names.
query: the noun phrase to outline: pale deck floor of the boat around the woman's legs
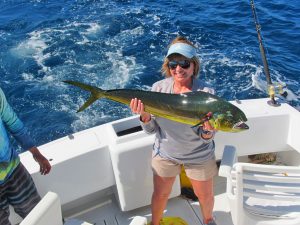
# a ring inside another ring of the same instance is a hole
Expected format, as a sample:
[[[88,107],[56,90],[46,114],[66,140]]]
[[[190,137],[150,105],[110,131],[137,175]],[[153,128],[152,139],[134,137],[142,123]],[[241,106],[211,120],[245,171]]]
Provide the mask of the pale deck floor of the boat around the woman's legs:
[[[214,216],[218,225],[233,225],[229,206],[226,200],[225,178],[216,177],[215,180],[215,207]],[[151,221],[150,206],[139,209],[122,212],[118,206],[114,195],[110,196],[102,205],[92,207],[91,209],[71,216],[97,225],[128,225],[135,216],[143,216],[147,221]],[[189,225],[197,225],[202,223],[202,215],[200,213],[199,203],[197,201],[187,200],[184,197],[175,197],[168,201],[164,216],[181,217]]]

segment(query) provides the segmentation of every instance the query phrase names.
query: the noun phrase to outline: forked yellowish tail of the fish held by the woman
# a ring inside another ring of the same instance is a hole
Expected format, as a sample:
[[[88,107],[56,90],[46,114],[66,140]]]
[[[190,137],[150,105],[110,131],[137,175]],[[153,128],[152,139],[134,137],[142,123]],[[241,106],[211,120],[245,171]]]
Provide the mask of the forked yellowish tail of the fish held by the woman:
[[[97,88],[97,87],[94,87],[94,86],[91,86],[88,84],[84,84],[81,82],[72,81],[72,80],[65,80],[63,82],[77,86],[85,91],[91,92],[91,96],[89,97],[89,99],[77,110],[77,112],[81,112],[81,111],[85,110],[87,107],[89,107],[91,104],[93,104],[94,101],[96,101],[99,98],[104,97],[105,91],[100,88]]]

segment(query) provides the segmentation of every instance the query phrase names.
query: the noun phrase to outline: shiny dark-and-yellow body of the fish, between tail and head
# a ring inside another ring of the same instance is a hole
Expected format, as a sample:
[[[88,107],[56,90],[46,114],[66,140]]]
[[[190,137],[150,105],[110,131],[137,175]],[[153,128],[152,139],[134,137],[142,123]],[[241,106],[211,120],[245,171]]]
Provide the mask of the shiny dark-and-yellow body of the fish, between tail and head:
[[[217,101],[208,93],[191,92],[186,94],[166,94],[131,89],[107,90],[106,98],[129,105],[131,99],[138,98],[145,105],[145,111],[172,118],[175,121],[185,121],[190,125],[199,122],[207,112],[215,111],[214,102]]]

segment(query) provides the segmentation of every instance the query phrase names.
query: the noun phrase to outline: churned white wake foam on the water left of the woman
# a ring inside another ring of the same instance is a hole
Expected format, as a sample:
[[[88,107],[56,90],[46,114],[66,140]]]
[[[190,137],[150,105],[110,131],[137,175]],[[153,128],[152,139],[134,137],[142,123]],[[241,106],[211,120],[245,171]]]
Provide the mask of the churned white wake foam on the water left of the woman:
[[[76,38],[71,35],[72,32],[79,34]],[[79,31],[78,31],[79,30]],[[42,86],[51,87],[57,93],[62,93],[62,87],[64,90],[70,90],[70,92],[76,92],[77,98],[70,97],[69,94],[60,94],[51,104],[44,102],[44,99],[31,102],[34,107],[48,108],[51,111],[71,113],[73,121],[71,123],[71,129],[79,131],[81,129],[95,126],[110,120],[110,118],[120,118],[122,116],[131,115],[128,109],[120,105],[112,105],[107,101],[101,101],[95,103],[97,107],[91,106],[89,110],[83,113],[75,113],[75,111],[82,105],[87,99],[87,93],[80,90],[73,90],[73,87],[65,86],[61,83],[62,80],[69,79],[70,69],[76,67],[76,74],[72,75],[72,79],[80,80],[82,76],[87,77],[87,83],[94,83],[94,85],[105,88],[124,88],[128,85],[137,74],[141,74],[144,66],[137,65],[136,58],[134,56],[124,56],[122,47],[124,45],[124,39],[132,36],[143,35],[143,29],[137,27],[133,30],[125,30],[121,32],[117,37],[109,40],[106,45],[109,49],[114,51],[100,51],[99,54],[106,58],[106,61],[95,61],[93,63],[85,63],[77,61],[74,58],[72,52],[65,52],[67,49],[57,49],[54,52],[51,50],[52,46],[56,42],[69,39],[76,45],[85,45],[87,43],[97,44],[95,36],[100,32],[101,27],[97,23],[70,23],[62,27],[56,27],[52,29],[42,29],[30,33],[29,38],[20,43],[17,48],[12,51],[18,57],[26,57],[34,59],[36,64],[40,66],[39,73],[43,73],[40,78],[37,78],[33,73],[22,73],[22,78],[27,82],[34,82],[35,86],[41,88]],[[81,41],[78,41],[81,40]],[[50,43],[50,44],[46,44]],[[60,48],[63,48],[61,46]],[[64,55],[70,55],[65,57]],[[52,57],[64,57],[61,64],[55,66],[47,65],[47,61]],[[86,71],[97,69],[97,67],[107,66],[109,69],[105,70],[107,73],[103,74],[101,71],[96,73],[88,73]],[[99,74],[100,72],[100,74]],[[58,82],[58,83],[57,83]]]

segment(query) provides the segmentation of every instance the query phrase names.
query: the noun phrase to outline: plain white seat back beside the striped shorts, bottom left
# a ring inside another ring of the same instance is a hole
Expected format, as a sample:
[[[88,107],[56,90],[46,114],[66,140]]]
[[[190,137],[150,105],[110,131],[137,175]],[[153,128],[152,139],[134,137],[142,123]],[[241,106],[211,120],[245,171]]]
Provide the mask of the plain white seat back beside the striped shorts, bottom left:
[[[77,219],[63,221],[58,195],[48,192],[20,225],[92,225]]]

